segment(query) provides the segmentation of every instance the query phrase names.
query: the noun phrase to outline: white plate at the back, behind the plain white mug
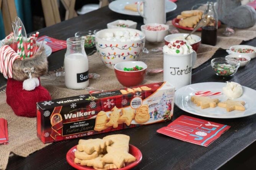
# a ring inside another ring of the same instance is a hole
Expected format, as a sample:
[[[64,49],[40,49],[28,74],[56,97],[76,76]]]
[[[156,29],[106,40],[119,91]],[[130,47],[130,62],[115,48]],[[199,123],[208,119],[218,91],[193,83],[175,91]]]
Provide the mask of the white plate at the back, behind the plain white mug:
[[[125,10],[125,5],[135,3],[138,1],[139,0],[115,0],[108,5],[108,8],[110,8],[110,10],[120,13],[120,14],[140,16],[138,12]],[[169,0],[165,0],[165,12],[166,13],[176,10],[176,8],[177,8],[176,3],[171,2]]]

